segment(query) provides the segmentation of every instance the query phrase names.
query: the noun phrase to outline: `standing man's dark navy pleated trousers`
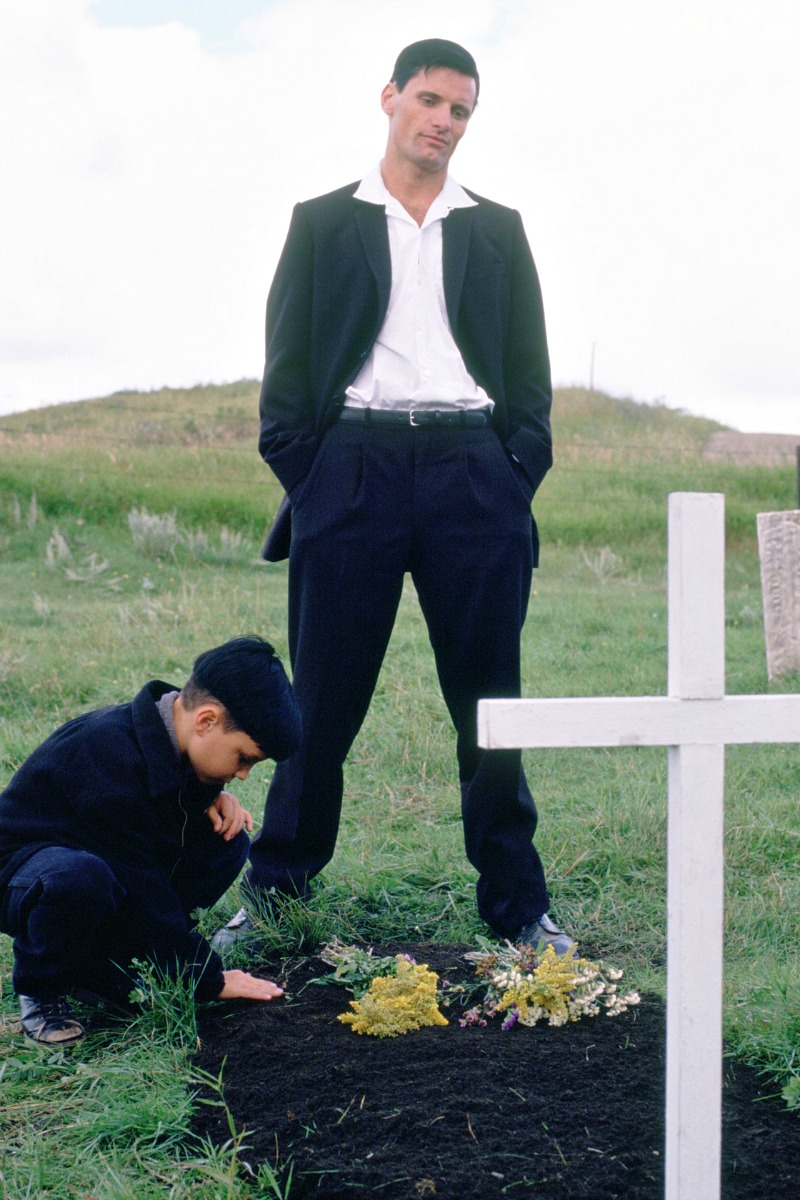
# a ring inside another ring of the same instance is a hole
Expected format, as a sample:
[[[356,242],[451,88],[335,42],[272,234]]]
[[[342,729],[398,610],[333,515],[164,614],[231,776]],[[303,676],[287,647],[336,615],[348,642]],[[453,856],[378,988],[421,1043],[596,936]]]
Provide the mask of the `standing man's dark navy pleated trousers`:
[[[491,427],[337,424],[290,497],[289,649],[301,749],[278,763],[251,847],[253,890],[305,894],[333,854],[343,763],[409,572],[456,727],[467,856],[504,937],[547,911],[518,751],[477,746],[482,697],[519,695],[534,527],[527,480]]]

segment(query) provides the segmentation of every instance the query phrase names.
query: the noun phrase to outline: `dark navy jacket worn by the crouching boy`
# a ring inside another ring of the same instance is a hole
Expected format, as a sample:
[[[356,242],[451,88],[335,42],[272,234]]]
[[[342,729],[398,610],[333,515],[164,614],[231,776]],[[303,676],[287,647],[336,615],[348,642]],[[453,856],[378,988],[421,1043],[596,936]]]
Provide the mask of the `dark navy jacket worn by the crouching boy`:
[[[170,872],[186,847],[197,856],[216,840],[205,810],[219,787],[200,784],[173,748],[156,708],[173,690],[152,680],[127,704],[78,716],[22,764],[0,793],[0,893],[42,846],[88,850],[125,888],[140,953],[188,967],[198,997],[215,998],[222,961],[190,928]]]

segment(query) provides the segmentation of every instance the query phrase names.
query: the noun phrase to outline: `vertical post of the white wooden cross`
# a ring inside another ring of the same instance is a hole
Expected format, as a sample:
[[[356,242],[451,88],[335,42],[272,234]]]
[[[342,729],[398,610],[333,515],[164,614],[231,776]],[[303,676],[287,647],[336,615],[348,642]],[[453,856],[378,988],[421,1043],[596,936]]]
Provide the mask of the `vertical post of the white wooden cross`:
[[[724,498],[669,497],[670,697],[724,696]],[[687,708],[691,728],[691,707]],[[666,1200],[718,1196],[724,744],[667,750]]]

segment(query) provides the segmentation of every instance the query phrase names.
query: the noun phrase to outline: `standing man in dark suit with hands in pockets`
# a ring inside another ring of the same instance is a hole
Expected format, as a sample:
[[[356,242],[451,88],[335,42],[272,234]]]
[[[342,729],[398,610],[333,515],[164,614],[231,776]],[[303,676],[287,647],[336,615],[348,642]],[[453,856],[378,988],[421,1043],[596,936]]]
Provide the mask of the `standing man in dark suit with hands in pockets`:
[[[330,862],[342,764],[410,572],[457,731],[481,917],[572,940],[547,917],[536,809],[516,751],[480,750],[481,697],[519,695],[536,565],[530,503],[552,464],[551,378],[519,214],[447,174],[479,94],[453,42],[415,42],[381,92],[383,162],[295,208],[270,290],[259,448],[290,518],[289,646],[301,750],[275,770],[246,888],[305,895]],[[246,910],[217,934],[245,932]]]

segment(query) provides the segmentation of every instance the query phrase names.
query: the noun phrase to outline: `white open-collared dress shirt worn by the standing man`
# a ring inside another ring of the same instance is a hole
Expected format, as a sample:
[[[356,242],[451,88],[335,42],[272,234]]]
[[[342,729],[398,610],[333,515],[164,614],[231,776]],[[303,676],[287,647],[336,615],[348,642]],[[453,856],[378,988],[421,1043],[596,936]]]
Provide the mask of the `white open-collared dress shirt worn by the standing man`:
[[[386,190],[380,167],[361,180],[356,199],[386,209],[392,284],[378,340],[347,389],[353,408],[493,408],[464,366],[450,329],[441,271],[441,223],[451,209],[471,208],[446,176],[417,226]]]

